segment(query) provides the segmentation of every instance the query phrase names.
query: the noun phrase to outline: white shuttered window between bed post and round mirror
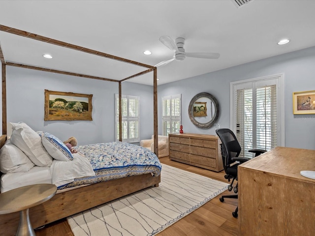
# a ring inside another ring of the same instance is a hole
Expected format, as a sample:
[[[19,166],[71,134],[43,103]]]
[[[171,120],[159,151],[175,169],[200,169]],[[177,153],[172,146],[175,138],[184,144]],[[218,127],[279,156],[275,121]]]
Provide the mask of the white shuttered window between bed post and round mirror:
[[[181,125],[182,95],[162,97],[162,129],[163,135],[179,133]]]

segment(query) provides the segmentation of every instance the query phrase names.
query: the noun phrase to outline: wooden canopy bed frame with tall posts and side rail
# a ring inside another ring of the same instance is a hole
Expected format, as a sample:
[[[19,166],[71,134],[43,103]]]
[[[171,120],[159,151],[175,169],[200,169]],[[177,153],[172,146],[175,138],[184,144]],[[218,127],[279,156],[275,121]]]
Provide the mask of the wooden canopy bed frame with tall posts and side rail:
[[[28,66],[24,64],[17,64],[12,62],[6,62],[0,45],[0,61],[2,66],[2,135],[0,136],[0,147],[2,147],[6,141],[7,134],[7,120],[6,120],[6,66],[17,66],[23,68],[29,68],[34,70],[41,70],[53,73],[60,73],[65,75],[85,77],[89,79],[99,79],[104,81],[112,81],[119,83],[119,140],[122,141],[122,82],[131,79],[133,77],[146,74],[153,71],[154,80],[154,152],[158,155],[158,102],[157,102],[157,67],[142,64],[140,62],[119,58],[113,55],[108,55],[106,53],[98,52],[95,50],[83,48],[73,44],[68,44],[55,39],[40,36],[34,33],[26,32],[20,29],[13,29],[0,25],[0,30],[8,33],[13,33],[16,35],[32,38],[34,40],[39,40],[46,43],[51,43],[54,45],[62,46],[68,49],[78,50],[81,52],[97,55],[100,57],[105,57],[109,59],[115,59],[122,62],[134,64],[137,66],[145,67],[146,70],[138,74],[132,75],[130,77],[124,78],[120,81],[101,78],[95,76],[89,76],[84,74],[69,73],[60,70],[53,70],[47,68],[41,68],[36,66]],[[160,176],[153,177],[151,174],[141,175],[141,176],[130,176],[121,179],[114,179],[105,182],[95,183],[88,186],[68,190],[59,194],[56,194],[52,199],[47,202],[30,208],[30,220],[34,228],[43,226],[45,224],[54,222],[56,220],[62,219],[64,217],[70,216],[72,214],[81,212],[83,210],[89,209],[91,207],[98,206],[100,204],[112,201],[114,199],[126,196],[130,193],[139,191],[141,189],[158,186],[160,182]],[[18,225],[19,225],[20,215],[19,212],[0,215],[0,235],[15,235]]]

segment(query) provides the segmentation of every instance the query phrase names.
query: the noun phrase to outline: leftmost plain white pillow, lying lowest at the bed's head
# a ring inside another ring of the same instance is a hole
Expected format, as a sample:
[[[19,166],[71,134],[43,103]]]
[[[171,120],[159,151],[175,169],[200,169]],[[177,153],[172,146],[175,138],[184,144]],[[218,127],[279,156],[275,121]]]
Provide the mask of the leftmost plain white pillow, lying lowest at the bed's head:
[[[34,163],[18,147],[7,140],[0,149],[0,171],[3,174],[28,172]]]

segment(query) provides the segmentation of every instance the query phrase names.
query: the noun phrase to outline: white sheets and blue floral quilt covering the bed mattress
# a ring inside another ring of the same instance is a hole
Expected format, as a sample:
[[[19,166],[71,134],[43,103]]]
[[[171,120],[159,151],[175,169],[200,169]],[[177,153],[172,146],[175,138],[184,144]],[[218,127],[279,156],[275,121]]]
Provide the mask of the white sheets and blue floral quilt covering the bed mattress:
[[[1,192],[37,184],[53,183],[58,192],[111,179],[151,173],[158,176],[161,164],[147,148],[122,143],[76,147],[73,161],[54,160],[50,167],[34,166],[28,172],[2,174]]]

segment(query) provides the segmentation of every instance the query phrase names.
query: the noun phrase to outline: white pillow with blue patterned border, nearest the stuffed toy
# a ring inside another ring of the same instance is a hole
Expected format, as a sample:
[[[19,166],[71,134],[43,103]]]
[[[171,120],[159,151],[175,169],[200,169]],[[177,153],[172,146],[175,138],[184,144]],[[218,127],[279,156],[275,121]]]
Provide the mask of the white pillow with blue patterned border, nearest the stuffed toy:
[[[59,161],[73,160],[73,156],[69,148],[67,148],[56,136],[43,131],[37,131],[37,134],[41,136],[43,146],[54,159]]]

